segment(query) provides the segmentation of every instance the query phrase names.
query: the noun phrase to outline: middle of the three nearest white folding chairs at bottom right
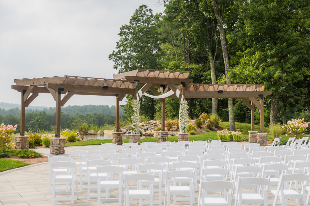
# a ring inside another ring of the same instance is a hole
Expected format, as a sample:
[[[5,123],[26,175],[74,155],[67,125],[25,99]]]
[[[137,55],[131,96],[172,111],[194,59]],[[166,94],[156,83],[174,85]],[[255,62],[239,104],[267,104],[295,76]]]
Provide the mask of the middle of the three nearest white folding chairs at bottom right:
[[[238,178],[237,180],[237,190],[236,190],[236,200],[235,206],[241,206],[243,204],[263,204],[268,206],[268,185],[269,179],[261,177],[248,177],[248,178]],[[263,194],[260,193],[260,187]],[[254,188],[254,189],[252,189]],[[242,190],[247,189],[247,190]],[[249,191],[252,189],[253,191]]]

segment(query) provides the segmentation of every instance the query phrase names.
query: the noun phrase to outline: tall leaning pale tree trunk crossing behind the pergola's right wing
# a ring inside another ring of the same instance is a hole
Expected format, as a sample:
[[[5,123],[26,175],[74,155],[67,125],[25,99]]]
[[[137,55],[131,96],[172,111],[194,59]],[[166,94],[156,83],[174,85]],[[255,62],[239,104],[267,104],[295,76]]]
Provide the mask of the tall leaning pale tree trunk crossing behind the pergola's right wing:
[[[219,25],[219,36],[221,39],[221,45],[222,45],[222,51],[223,51],[226,83],[231,84],[230,77],[228,76],[230,66],[229,66],[228,53],[227,53],[227,48],[226,48],[226,39],[225,39],[225,32],[224,32],[224,27],[223,27],[223,20],[222,20],[222,17],[219,16],[219,13],[217,11],[217,4],[215,0],[212,0],[212,3],[213,3],[214,14],[215,14],[217,23]],[[228,99],[228,114],[229,114],[229,129],[230,131],[236,131],[235,118],[233,115],[232,99]]]

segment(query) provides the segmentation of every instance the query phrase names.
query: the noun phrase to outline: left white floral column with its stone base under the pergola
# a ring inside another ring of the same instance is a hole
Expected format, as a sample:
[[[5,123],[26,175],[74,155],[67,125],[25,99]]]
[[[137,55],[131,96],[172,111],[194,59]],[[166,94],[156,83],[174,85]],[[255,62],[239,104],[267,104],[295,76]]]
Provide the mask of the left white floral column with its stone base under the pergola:
[[[139,113],[140,113],[140,102],[137,99],[134,99],[132,103],[133,114],[131,117],[132,120],[132,130],[129,135],[129,142],[139,143],[140,144],[140,129],[139,129]]]

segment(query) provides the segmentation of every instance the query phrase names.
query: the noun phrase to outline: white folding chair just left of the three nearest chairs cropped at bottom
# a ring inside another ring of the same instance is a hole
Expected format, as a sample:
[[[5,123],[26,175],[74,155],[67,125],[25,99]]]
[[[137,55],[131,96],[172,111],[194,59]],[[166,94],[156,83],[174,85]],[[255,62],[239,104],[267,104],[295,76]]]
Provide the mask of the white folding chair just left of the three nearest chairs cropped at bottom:
[[[192,206],[194,203],[194,177],[196,176],[194,171],[168,171],[166,173],[166,188],[165,188],[165,204],[167,196],[167,205],[170,206],[171,195],[173,195],[173,204],[176,201],[188,201],[189,205]],[[187,185],[176,185],[175,178],[187,178]],[[176,198],[176,195],[189,195],[188,198]]]

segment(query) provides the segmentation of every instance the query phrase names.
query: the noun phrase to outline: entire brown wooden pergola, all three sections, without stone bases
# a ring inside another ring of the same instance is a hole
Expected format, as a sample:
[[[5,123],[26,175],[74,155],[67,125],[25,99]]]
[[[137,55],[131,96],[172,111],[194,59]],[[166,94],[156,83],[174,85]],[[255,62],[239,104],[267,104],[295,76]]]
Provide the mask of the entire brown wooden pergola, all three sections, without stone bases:
[[[264,85],[191,84],[193,79],[188,76],[189,72],[186,71],[136,69],[115,74],[114,79],[78,76],[15,79],[16,85],[11,87],[21,93],[20,135],[24,136],[25,107],[28,107],[39,93],[50,93],[56,102],[55,137],[60,137],[60,108],[73,95],[115,96],[116,132],[119,131],[119,102],[126,95],[132,95],[134,99],[139,99],[142,95],[158,99],[162,103],[162,131],[165,131],[165,98],[178,98],[181,101],[186,98],[240,98],[251,110],[252,130],[254,107],[260,109],[260,130],[264,131],[263,99],[272,93],[264,91]],[[137,86],[142,88],[137,91]],[[162,94],[155,87],[160,87]],[[146,94],[146,90],[150,90],[154,96]],[[61,98],[62,94],[64,96]]]

